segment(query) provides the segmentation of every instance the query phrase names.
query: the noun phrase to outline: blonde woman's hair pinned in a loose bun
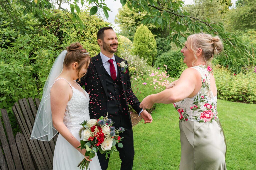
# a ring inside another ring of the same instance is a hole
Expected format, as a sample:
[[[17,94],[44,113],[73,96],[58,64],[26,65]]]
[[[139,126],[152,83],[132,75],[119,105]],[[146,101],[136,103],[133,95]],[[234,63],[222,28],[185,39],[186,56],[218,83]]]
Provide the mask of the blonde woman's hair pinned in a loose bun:
[[[196,56],[198,48],[202,49],[202,55],[207,65],[210,65],[214,56],[223,50],[223,44],[218,36],[212,37],[205,33],[188,36],[186,43],[188,50],[193,52],[195,56],[195,60],[192,63],[193,66],[198,59]]]

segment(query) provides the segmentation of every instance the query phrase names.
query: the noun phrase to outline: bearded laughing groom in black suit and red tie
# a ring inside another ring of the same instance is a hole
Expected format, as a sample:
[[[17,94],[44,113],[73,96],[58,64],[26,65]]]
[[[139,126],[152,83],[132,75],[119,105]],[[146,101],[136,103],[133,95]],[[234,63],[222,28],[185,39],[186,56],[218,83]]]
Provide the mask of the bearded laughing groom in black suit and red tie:
[[[81,79],[81,86],[90,95],[89,112],[91,119],[105,117],[111,118],[115,128],[124,127],[126,130],[120,133],[124,137],[121,141],[123,148],[116,147],[120,152],[122,161],[121,170],[132,170],[134,146],[132,122],[128,104],[141,115],[145,123],[151,123],[152,117],[142,110],[140,102],[131,88],[129,69],[121,71],[117,63],[124,61],[114,55],[118,48],[118,38],[112,27],[103,27],[97,34],[98,44],[101,52],[91,59],[86,76]],[[127,64],[127,62],[125,61]],[[123,64],[122,64],[123,65]],[[121,66],[122,67],[122,66]],[[97,152],[101,169],[108,168],[109,157]]]

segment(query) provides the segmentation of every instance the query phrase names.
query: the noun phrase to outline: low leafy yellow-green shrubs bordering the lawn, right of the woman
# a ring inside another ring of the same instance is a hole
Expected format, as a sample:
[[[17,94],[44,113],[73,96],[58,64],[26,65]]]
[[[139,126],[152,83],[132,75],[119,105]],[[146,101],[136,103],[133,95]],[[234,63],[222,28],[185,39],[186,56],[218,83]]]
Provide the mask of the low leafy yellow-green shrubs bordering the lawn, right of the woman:
[[[256,103],[256,68],[249,68],[239,74],[227,69],[215,68],[214,77],[218,89],[218,99]]]

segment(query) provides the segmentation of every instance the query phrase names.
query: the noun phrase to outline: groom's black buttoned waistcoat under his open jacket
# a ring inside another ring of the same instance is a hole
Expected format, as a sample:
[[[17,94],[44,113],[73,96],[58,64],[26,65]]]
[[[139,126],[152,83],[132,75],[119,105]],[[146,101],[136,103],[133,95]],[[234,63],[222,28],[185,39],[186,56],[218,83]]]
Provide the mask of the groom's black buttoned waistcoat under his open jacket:
[[[113,81],[105,69],[104,73],[108,97],[107,112],[112,115],[117,115],[120,111],[123,111],[124,106],[126,106],[120,74],[117,72],[117,78]]]

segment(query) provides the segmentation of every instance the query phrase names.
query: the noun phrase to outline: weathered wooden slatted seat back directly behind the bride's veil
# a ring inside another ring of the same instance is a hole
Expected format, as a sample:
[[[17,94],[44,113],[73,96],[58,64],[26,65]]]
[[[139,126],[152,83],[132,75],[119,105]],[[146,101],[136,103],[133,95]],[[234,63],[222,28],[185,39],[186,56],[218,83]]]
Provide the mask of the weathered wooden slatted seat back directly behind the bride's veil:
[[[24,134],[37,169],[52,169],[57,135],[55,135],[55,137],[49,142],[30,139],[39,104],[40,100],[38,98],[35,98],[35,102],[32,98],[23,98],[14,104],[12,110],[17,119],[20,130]]]

